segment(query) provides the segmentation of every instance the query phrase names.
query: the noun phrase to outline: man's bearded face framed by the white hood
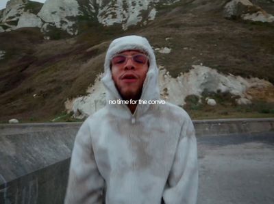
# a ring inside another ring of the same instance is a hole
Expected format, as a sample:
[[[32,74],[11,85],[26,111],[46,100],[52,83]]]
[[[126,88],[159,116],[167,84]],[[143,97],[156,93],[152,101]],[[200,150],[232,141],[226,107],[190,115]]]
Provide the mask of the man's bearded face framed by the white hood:
[[[140,51],[123,51],[114,56],[112,79],[124,100],[140,99],[142,85],[149,69],[146,55]]]

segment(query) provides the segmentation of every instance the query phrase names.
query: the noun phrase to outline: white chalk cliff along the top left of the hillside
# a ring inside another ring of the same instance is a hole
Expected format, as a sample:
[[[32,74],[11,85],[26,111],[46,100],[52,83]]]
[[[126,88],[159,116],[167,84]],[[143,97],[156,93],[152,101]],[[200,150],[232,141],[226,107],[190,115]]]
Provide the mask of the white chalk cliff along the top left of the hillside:
[[[76,35],[81,29],[79,21],[90,21],[105,26],[119,25],[125,30],[132,25],[146,25],[148,21],[153,21],[157,5],[170,5],[177,1],[47,0],[44,5],[41,4],[41,8],[35,9],[38,10],[36,13],[30,10],[34,5],[32,1],[10,0],[0,17],[0,26],[1,23],[8,23],[6,31],[19,27],[41,27],[44,33],[50,27],[56,27]]]

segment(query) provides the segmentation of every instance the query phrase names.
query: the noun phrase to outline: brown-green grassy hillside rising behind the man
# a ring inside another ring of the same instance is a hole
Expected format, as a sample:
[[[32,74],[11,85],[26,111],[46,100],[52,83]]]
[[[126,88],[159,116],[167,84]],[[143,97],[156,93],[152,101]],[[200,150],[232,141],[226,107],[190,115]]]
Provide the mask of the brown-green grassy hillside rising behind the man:
[[[110,40],[127,34],[146,36],[153,47],[171,47],[171,54],[156,53],[156,58],[173,77],[188,71],[192,64],[203,63],[222,73],[274,83],[273,25],[228,21],[219,7],[212,8],[206,3],[161,8],[160,16],[146,27],[125,32],[116,27],[90,28],[66,40],[43,40],[38,29],[0,34],[0,47],[7,51],[6,59],[0,61],[0,122],[10,118],[48,121],[65,116],[64,101],[85,94],[97,73],[103,71]],[[167,37],[172,39],[166,41]],[[274,116],[273,104],[268,103],[265,111],[260,107],[265,105],[262,101],[242,108],[231,101],[217,108],[191,104],[185,107],[194,118]]]

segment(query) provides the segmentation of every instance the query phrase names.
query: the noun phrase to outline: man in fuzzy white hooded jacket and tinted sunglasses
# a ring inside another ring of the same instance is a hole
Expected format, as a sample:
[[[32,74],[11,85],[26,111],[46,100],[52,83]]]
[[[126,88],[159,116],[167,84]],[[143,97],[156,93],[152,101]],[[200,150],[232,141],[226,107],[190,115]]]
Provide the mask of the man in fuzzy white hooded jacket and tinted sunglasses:
[[[65,203],[196,203],[197,142],[188,114],[171,103],[109,103],[160,100],[147,39],[114,40],[104,69],[107,105],[77,133]]]

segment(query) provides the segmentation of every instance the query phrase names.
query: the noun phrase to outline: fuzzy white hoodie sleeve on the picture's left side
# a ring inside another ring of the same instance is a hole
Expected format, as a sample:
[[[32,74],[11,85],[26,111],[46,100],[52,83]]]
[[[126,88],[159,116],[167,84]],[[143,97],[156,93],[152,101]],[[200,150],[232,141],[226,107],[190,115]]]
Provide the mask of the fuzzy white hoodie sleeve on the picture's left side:
[[[80,127],[75,138],[65,204],[103,203],[104,180],[99,174],[88,120]]]

